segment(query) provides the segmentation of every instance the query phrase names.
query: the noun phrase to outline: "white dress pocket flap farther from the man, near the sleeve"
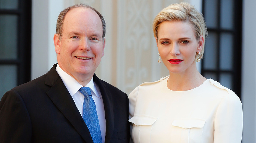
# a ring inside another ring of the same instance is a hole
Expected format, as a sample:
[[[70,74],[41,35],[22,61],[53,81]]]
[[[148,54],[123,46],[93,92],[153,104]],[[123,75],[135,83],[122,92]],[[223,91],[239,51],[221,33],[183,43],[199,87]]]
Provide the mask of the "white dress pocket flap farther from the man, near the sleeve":
[[[198,118],[193,118],[193,119],[175,119],[172,122],[173,126],[181,127],[184,129],[188,128],[203,128],[205,124],[205,119],[198,119]]]

